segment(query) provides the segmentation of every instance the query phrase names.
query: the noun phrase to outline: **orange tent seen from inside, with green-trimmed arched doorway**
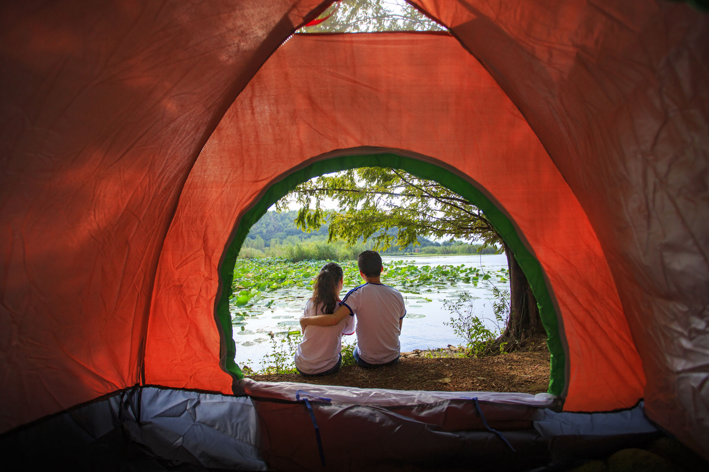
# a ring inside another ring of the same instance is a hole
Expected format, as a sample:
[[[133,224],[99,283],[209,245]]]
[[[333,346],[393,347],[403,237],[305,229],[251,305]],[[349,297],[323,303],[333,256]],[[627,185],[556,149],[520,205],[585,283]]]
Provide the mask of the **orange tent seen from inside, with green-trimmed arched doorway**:
[[[411,0],[448,31],[294,35],[331,3],[2,6],[0,450],[561,470],[669,434],[708,459],[705,11]],[[228,304],[250,226],[360,166],[490,218],[537,299],[547,393],[245,378]]]

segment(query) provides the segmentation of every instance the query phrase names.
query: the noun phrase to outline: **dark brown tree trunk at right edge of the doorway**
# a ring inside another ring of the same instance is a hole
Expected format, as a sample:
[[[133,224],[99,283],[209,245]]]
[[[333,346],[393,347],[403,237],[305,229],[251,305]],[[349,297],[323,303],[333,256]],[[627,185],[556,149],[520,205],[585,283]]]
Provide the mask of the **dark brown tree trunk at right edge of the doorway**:
[[[510,319],[502,338],[511,338],[521,342],[529,338],[530,335],[545,335],[546,331],[539,316],[537,300],[532,294],[527,277],[507,244],[503,243],[503,246],[510,270]]]

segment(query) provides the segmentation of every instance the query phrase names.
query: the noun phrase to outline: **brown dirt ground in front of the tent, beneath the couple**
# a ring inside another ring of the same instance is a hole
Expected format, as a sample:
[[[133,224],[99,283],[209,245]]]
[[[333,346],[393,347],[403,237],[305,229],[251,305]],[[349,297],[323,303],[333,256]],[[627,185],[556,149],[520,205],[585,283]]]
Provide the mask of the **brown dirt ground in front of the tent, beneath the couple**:
[[[362,369],[342,367],[337,374],[250,375],[257,381],[303,382],[358,388],[429,391],[498,391],[542,393],[549,387],[549,352],[511,352],[479,357],[426,357],[456,352],[402,352],[398,364]]]

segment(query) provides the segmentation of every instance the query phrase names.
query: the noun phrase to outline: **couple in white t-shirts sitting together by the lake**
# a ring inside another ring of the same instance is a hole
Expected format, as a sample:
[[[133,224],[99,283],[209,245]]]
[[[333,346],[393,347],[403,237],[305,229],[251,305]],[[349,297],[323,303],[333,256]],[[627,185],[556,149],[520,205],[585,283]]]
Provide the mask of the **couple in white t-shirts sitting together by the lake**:
[[[354,334],[357,316],[357,345],[352,354],[360,367],[372,368],[398,362],[399,334],[406,316],[401,294],[379,277],[384,267],[374,251],[357,258],[363,285],[347,292],[340,301],[342,267],[327,263],[320,269],[313,286],[313,297],[301,318],[303,341],[294,355],[296,368],[303,375],[330,375],[342,364],[342,335]]]

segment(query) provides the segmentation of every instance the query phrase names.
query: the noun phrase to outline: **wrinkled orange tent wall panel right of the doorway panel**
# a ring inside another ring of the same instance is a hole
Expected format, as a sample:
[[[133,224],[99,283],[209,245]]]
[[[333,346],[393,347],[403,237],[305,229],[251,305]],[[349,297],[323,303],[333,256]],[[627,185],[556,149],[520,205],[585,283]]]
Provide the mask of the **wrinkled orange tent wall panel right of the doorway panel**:
[[[452,28],[549,151],[608,258],[645,410],[709,457],[709,14],[652,0],[410,3]]]

